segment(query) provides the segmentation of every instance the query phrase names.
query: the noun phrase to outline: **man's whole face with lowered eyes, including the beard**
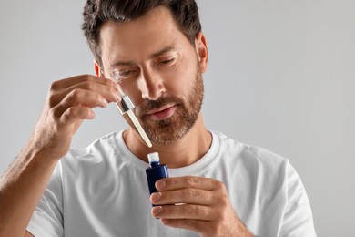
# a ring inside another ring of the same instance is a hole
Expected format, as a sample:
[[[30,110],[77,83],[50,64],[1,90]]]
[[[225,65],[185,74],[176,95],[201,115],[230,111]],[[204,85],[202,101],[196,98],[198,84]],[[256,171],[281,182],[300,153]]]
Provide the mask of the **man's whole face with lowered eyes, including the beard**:
[[[202,105],[201,68],[196,47],[167,8],[127,23],[106,22],[100,43],[105,76],[118,76],[149,139],[167,144],[187,134]]]

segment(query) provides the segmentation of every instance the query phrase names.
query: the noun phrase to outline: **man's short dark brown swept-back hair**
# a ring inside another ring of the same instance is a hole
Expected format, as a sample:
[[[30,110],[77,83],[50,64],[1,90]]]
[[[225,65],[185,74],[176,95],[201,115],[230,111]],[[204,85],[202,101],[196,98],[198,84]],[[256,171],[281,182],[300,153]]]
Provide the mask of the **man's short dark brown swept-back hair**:
[[[103,23],[131,21],[157,6],[166,6],[171,11],[177,27],[195,45],[195,37],[201,31],[195,0],[87,0],[82,29],[98,63],[102,65],[99,35]]]

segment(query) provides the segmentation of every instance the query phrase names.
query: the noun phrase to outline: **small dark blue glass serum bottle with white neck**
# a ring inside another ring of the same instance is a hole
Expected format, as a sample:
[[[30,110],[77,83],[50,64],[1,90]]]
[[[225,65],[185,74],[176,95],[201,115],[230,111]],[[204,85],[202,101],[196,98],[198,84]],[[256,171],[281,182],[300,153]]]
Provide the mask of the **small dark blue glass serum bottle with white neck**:
[[[147,155],[147,159],[149,161],[150,166],[146,170],[147,183],[149,193],[152,194],[153,192],[157,192],[156,181],[168,177],[167,165],[160,164],[159,153],[157,152],[149,153]]]

